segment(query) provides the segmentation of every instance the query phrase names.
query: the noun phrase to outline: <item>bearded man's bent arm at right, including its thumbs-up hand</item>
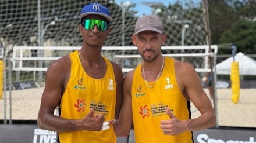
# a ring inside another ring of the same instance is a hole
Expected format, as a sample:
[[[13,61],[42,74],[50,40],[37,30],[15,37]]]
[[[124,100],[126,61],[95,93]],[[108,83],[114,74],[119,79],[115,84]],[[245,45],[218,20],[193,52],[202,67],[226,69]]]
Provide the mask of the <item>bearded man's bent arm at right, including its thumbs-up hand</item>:
[[[194,119],[179,120],[166,110],[170,120],[161,121],[161,129],[167,135],[177,135],[184,131],[194,131],[213,127],[216,116],[209,97],[202,89],[200,78],[189,63],[176,61],[176,80],[187,100],[191,100],[201,115]]]

